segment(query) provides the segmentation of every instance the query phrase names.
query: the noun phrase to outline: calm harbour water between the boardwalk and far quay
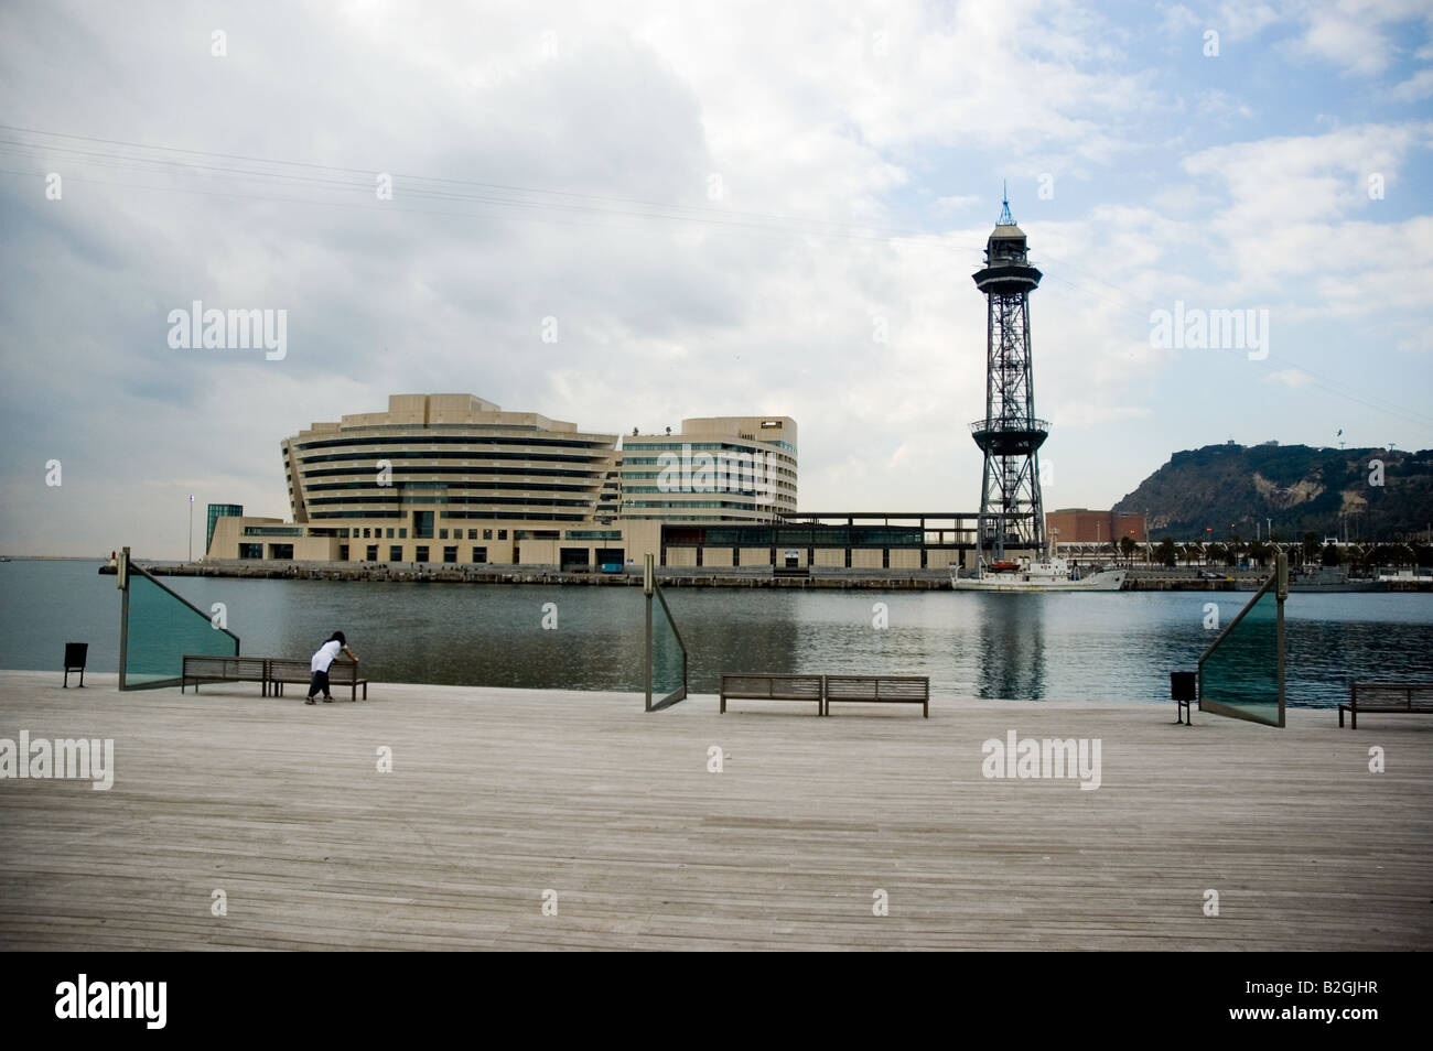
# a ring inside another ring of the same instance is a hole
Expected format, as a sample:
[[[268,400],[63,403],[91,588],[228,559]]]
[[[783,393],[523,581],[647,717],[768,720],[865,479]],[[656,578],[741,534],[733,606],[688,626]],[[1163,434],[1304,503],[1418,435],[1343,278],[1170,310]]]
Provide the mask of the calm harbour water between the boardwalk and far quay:
[[[99,563],[0,564],[0,667],[59,670],[64,641],[118,670],[119,591]],[[222,601],[242,653],[308,657],[335,629],[377,682],[641,690],[635,587],[162,577],[202,610]],[[722,672],[927,674],[957,697],[1168,700],[1248,593],[979,594],[672,589],[691,689]],[[874,629],[886,603],[890,627]],[[557,627],[543,630],[543,604]],[[1433,594],[1303,594],[1287,604],[1288,703],[1327,706],[1353,679],[1433,679]]]

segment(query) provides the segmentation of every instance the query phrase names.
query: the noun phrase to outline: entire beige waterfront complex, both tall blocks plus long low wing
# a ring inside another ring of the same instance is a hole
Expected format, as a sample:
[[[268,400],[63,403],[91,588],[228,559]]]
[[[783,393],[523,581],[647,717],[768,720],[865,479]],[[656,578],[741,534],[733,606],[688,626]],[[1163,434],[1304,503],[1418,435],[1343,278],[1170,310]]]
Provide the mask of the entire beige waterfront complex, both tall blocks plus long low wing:
[[[218,517],[209,558],[943,570],[974,514],[797,514],[790,417],[702,417],[616,435],[470,394],[400,394],[387,412],[281,442],[291,521]]]

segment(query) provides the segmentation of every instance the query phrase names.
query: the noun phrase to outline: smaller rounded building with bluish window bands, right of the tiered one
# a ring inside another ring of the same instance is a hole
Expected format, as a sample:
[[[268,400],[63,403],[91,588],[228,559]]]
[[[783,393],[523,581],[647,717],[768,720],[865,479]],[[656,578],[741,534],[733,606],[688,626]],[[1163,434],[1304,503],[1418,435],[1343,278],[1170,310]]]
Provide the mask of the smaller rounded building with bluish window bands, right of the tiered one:
[[[791,417],[699,417],[679,434],[622,440],[620,517],[668,523],[770,523],[797,510]]]

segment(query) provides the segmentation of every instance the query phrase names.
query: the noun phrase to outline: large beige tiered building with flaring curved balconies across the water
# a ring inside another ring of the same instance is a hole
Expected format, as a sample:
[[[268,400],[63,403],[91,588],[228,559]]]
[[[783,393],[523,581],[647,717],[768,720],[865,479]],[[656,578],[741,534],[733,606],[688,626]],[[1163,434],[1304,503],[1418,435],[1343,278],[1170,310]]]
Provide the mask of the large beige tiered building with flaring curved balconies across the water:
[[[221,517],[211,557],[513,564],[523,543],[537,556],[575,540],[583,561],[613,558],[589,541],[620,540],[595,528],[615,448],[471,394],[396,394],[285,438],[292,520]]]

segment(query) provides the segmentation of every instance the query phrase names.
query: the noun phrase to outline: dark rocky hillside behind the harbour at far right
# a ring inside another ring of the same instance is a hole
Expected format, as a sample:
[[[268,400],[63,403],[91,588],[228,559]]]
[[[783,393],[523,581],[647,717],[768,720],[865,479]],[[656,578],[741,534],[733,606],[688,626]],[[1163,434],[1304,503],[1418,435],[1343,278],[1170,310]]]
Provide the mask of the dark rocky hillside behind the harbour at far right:
[[[1383,485],[1370,484],[1371,460]],[[1231,523],[1252,538],[1265,518],[1288,540],[1343,536],[1346,518],[1350,537],[1412,537],[1433,523],[1433,450],[1205,445],[1175,452],[1115,510],[1148,511],[1155,538],[1225,538]]]

